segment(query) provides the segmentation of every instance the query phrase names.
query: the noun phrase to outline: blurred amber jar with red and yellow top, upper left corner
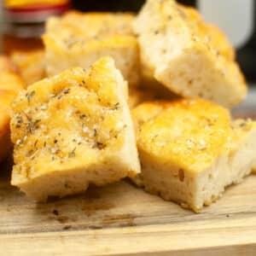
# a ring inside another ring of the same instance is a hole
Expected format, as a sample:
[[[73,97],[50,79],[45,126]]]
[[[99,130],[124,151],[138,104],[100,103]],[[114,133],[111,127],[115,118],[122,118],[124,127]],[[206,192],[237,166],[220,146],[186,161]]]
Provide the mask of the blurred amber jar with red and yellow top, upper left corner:
[[[61,15],[70,7],[69,0],[5,0],[3,2],[3,52],[43,47],[41,35],[45,20]]]

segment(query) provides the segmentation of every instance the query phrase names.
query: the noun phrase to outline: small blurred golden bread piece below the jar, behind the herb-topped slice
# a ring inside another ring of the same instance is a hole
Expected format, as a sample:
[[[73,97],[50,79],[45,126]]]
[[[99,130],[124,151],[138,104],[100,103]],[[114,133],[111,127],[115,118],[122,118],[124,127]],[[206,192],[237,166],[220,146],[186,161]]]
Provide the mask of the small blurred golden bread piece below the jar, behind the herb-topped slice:
[[[15,51],[11,58],[19,67],[20,75],[26,85],[34,84],[46,77],[44,49]]]

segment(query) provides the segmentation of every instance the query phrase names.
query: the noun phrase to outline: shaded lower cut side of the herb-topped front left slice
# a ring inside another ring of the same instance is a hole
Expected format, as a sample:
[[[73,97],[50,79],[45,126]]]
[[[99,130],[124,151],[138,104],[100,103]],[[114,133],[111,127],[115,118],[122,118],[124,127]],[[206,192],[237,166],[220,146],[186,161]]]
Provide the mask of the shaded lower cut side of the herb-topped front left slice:
[[[33,178],[29,182],[19,183],[19,187],[29,197],[39,202],[45,202],[51,196],[61,198],[66,195],[82,193],[90,183],[101,186],[134,175],[133,170],[127,174],[127,167],[123,163],[117,163],[117,160],[113,160],[113,162],[108,162],[108,165],[98,164],[88,168],[70,169],[65,172],[50,172]]]

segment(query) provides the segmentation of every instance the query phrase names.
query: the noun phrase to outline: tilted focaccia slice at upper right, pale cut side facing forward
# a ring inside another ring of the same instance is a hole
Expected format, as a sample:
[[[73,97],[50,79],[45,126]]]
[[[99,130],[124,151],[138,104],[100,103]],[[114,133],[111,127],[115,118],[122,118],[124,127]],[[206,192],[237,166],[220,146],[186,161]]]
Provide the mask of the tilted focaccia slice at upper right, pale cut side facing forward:
[[[134,20],[144,70],[181,96],[232,107],[247,86],[224,34],[173,0],[148,0]]]

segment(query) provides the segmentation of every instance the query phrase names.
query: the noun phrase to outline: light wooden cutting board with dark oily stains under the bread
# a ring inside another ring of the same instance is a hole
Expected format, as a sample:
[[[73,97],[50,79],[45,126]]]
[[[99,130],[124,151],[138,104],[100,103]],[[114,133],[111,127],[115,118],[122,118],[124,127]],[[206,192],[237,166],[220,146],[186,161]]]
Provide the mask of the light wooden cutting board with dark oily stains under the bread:
[[[0,177],[0,255],[256,255],[256,176],[200,214],[123,181],[36,204]]]

